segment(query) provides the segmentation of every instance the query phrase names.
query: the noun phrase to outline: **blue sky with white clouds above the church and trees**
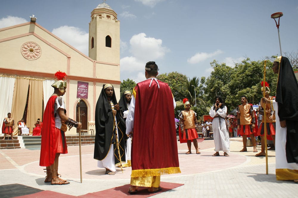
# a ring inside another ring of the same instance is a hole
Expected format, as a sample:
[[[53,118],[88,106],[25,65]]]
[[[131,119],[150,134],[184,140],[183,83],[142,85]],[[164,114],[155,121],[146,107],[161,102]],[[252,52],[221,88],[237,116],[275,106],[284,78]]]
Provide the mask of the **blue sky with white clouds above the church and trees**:
[[[31,2],[34,2],[33,4]],[[0,28],[37,23],[88,56],[90,13],[103,0],[3,1]],[[210,75],[214,59],[233,66],[246,57],[260,60],[298,52],[297,0],[107,0],[120,20],[120,80],[145,80],[144,66],[156,61],[159,73],[192,78]]]

